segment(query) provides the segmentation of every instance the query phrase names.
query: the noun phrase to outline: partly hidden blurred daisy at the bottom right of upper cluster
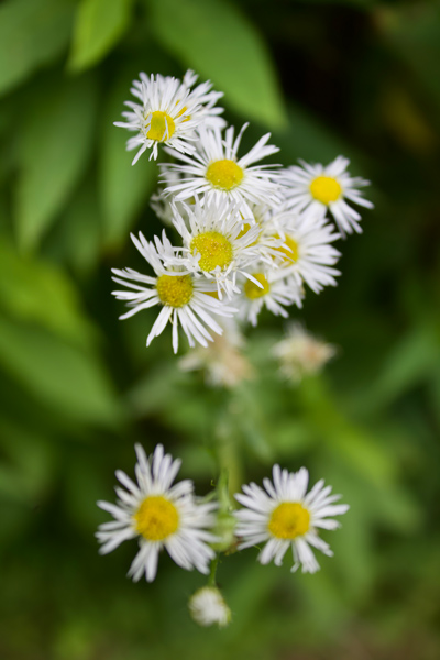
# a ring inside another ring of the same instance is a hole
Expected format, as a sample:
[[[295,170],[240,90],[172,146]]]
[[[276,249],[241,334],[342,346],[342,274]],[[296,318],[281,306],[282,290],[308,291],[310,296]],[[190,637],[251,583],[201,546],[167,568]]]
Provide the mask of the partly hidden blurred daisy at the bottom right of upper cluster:
[[[304,289],[293,278],[277,279],[275,271],[264,268],[261,272],[252,272],[252,276],[257,279],[260,286],[248,279],[242,287],[241,295],[234,299],[234,304],[240,310],[240,317],[252,326],[257,324],[257,318],[263,307],[285,319],[288,317],[288,312],[284,306],[289,307],[295,304],[302,307]]]

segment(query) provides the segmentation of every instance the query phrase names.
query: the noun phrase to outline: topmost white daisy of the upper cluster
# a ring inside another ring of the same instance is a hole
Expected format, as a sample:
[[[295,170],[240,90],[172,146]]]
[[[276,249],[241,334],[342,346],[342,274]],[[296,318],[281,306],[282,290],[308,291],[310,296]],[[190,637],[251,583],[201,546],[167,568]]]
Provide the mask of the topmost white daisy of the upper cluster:
[[[144,73],[140,74],[140,80],[133,80],[130,91],[141,103],[125,101],[130,110],[122,116],[127,121],[114,122],[116,127],[138,133],[127,143],[128,151],[139,148],[133,165],[147,148],[152,150],[150,158],[157,158],[162,143],[182,153],[195,151],[191,142],[197,140],[196,129],[208,117],[216,117],[218,110],[222,111],[212,108],[222,95],[209,91],[209,81],[191,91],[189,82],[194,84],[196,79],[197,76],[188,72],[184,82],[160,74],[148,77]]]

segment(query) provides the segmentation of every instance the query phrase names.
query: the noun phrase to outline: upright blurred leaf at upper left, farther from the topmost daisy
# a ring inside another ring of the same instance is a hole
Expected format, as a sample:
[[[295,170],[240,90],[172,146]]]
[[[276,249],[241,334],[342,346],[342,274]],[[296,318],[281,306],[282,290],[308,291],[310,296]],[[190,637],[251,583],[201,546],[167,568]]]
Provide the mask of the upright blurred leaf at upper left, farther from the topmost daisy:
[[[96,81],[81,78],[38,90],[22,127],[16,231],[22,248],[35,248],[55,220],[92,151]]]

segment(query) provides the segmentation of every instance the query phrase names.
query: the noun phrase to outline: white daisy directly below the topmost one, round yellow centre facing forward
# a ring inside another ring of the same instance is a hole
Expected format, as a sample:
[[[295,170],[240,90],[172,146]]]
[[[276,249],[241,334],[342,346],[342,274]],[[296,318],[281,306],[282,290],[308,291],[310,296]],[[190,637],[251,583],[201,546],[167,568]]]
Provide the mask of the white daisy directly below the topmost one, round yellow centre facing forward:
[[[224,139],[219,130],[201,128],[197,152],[191,156],[167,150],[167,153],[185,164],[163,164],[163,172],[179,172],[185,178],[179,184],[167,186],[165,193],[175,195],[177,200],[206,195],[208,200],[240,201],[246,216],[251,215],[250,204],[278,204],[278,172],[273,166],[253,163],[279,150],[266,144],[271,136],[267,133],[248,154],[239,158],[241,138],[248,125],[243,125],[235,140],[233,127],[226,131]]]

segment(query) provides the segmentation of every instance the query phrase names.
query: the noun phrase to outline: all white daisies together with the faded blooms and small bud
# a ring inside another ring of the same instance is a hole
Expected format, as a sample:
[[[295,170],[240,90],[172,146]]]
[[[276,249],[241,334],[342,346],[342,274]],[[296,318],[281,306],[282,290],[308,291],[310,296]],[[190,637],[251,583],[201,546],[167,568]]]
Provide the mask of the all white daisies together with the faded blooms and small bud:
[[[255,373],[240,352],[241,329],[256,326],[263,308],[287,318],[287,308],[302,307],[308,289],[319,294],[334,286],[340,252],[333,243],[361,231],[352,204],[373,205],[360,193],[369,182],[351,177],[342,156],[328,166],[265,165],[261,162],[279,151],[270,144],[270,133],[241,150],[248,124],[235,134],[217,107],[222,94],[209,81],[195,87],[196,81],[190,70],[183,81],[141,74],[131,89],[139,102],[127,102],[125,121],[117,123],[135,133],[128,141],[129,150],[138,150],[133,164],[147,150],[157,158],[161,146],[170,157],[160,164],[152,207],[174,242],[165,229],[152,241],[132,234],[152,272],[113,270],[114,282],[124,287],[113,294],[129,307],[121,318],[158,307],[146,345],[169,321],[175,353],[179,328],[193,349],[200,344],[180,367],[202,367],[208,383],[233,387]],[[298,324],[272,348],[280,372],[293,381],[318,372],[334,352]],[[307,492],[305,468],[290,473],[274,465],[264,487],[251,483],[234,495],[242,506],[235,510],[221,480],[215,493],[199,498],[191,481],[174,484],[180,461],[161,444],[150,458],[142,447],[135,450],[136,482],[118,471],[123,487],[116,488],[117,504],[98,503],[114,518],[99,527],[100,551],[136,538],[140,548],[129,571],[134,581],[155,579],[164,548],[183,569],[210,573],[208,585],[189,601],[199,625],[221,627],[231,619],[215,580],[220,551],[260,546],[260,562],[279,565],[292,549],[292,570],[302,566],[306,573],[319,569],[314,549],[332,554],[319,531],[339,527],[334,516],[349,507],[337,504],[340,495],[322,480]]]

